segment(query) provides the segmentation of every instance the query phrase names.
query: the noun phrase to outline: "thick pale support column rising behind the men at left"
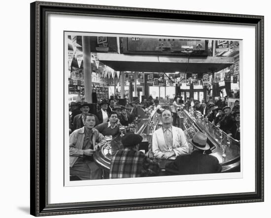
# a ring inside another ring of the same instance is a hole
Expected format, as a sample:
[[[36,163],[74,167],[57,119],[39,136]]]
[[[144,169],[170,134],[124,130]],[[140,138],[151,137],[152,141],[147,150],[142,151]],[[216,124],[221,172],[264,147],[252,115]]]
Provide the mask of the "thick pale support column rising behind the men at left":
[[[83,61],[84,61],[84,82],[85,101],[92,103],[92,70],[91,70],[91,49],[90,36],[82,36]]]

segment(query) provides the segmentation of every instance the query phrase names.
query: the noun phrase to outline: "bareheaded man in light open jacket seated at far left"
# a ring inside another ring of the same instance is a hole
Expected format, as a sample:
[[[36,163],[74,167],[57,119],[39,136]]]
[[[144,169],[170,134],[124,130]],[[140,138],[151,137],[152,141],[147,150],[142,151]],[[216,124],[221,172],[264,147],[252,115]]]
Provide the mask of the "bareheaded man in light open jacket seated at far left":
[[[81,180],[101,179],[102,169],[94,162],[93,154],[106,143],[104,136],[94,129],[94,114],[83,117],[84,126],[69,136],[69,174]]]

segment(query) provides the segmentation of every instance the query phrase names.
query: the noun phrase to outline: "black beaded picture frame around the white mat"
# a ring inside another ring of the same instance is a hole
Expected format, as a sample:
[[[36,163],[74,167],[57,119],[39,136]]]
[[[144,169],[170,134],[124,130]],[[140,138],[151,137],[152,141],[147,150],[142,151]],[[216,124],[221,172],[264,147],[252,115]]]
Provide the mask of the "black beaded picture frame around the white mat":
[[[264,201],[264,16],[58,2],[31,3],[31,214],[67,215]],[[47,15],[49,13],[250,25],[256,32],[255,192],[48,204]]]

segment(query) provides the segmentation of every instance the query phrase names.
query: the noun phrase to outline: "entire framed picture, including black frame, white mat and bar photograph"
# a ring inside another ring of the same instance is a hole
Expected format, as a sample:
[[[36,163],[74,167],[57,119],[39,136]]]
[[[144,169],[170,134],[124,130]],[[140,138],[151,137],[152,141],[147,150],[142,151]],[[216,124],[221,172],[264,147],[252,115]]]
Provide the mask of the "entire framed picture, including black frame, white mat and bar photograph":
[[[207,11],[31,4],[32,215],[264,200],[264,18]]]

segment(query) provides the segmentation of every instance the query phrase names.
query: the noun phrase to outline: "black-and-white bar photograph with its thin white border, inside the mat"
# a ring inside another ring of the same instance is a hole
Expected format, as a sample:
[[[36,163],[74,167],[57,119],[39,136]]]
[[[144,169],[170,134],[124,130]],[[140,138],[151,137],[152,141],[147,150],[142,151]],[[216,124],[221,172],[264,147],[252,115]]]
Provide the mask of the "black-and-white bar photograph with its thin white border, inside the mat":
[[[65,31],[65,185],[240,178],[241,61],[240,39]]]

